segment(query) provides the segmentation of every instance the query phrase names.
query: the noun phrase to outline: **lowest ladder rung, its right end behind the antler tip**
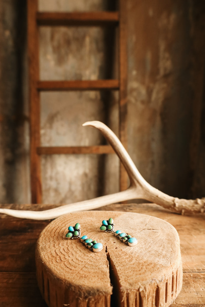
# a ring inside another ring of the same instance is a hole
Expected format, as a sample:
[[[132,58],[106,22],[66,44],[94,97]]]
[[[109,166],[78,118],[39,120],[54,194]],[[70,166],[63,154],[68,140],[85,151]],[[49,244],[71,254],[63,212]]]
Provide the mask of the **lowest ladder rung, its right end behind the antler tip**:
[[[37,147],[37,154],[83,154],[83,153],[114,153],[110,145],[99,146],[66,146],[66,147]]]

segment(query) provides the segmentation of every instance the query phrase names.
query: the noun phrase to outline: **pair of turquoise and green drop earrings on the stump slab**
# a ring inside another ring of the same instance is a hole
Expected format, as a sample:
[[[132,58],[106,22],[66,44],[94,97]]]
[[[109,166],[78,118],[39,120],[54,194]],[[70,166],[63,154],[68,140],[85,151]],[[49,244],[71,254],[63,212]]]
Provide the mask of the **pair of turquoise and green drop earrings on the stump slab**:
[[[137,239],[133,238],[132,235],[128,235],[121,230],[114,231],[114,221],[112,218],[109,220],[103,220],[100,230],[103,232],[113,232],[116,237],[118,237],[128,246],[135,246],[137,244]],[[81,226],[79,223],[76,223],[75,226],[69,226],[68,231],[69,232],[65,235],[66,239],[80,239],[81,242],[93,252],[99,252],[103,249],[102,243],[98,243],[96,240],[89,239],[87,235],[83,235],[81,237]]]

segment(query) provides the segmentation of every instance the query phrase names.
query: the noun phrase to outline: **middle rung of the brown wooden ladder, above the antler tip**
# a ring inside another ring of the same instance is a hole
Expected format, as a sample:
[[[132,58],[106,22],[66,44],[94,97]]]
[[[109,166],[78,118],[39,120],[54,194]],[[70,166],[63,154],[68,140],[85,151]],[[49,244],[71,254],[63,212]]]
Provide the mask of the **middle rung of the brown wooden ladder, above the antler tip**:
[[[39,91],[118,90],[119,80],[38,81]]]

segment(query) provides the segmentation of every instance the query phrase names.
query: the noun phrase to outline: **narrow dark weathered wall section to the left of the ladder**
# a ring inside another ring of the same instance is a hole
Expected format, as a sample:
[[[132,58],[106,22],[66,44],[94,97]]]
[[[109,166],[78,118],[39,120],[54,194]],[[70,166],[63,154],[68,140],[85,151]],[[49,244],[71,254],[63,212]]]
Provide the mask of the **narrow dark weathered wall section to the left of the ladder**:
[[[26,0],[0,1],[0,202],[30,201]]]

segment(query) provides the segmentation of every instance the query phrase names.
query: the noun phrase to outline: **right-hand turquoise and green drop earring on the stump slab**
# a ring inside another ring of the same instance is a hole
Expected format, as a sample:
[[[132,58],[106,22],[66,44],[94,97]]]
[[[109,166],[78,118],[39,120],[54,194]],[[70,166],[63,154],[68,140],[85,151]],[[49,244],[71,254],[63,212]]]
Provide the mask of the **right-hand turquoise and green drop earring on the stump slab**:
[[[102,226],[100,227],[101,231],[104,232],[113,232],[116,237],[118,237],[122,242],[127,244],[128,246],[135,246],[137,244],[137,239],[133,238],[131,235],[128,235],[121,230],[114,231],[114,223],[113,219],[110,218],[109,220],[103,220]]]

